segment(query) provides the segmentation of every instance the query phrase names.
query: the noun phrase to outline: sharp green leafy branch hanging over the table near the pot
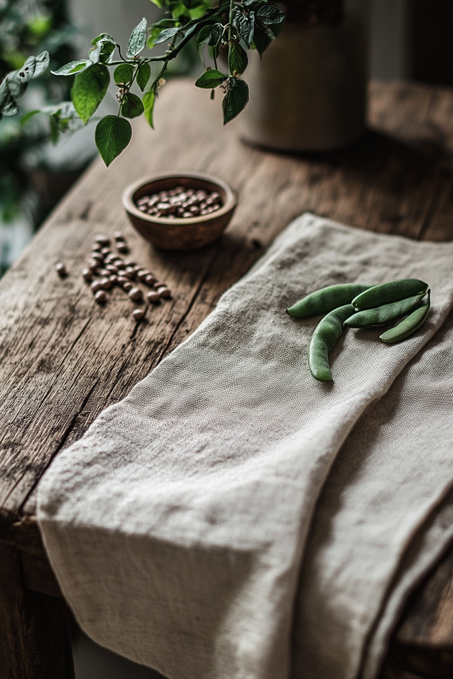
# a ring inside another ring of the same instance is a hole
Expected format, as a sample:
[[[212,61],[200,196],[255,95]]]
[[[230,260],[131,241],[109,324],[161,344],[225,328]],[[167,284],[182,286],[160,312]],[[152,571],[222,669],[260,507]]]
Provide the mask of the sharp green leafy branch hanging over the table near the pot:
[[[241,78],[247,69],[247,49],[255,49],[261,56],[285,20],[285,14],[270,0],[218,0],[215,5],[209,0],[152,1],[159,7],[166,7],[167,17],[151,26],[147,26],[147,20],[143,18],[132,31],[126,56],[111,35],[101,33],[92,40],[88,58],[71,61],[52,71],[54,75],[76,76],[71,100],[75,113],[86,124],[107,92],[111,81],[109,69],[114,69],[113,81],[119,87],[118,115],[116,120],[115,116],[108,115],[99,121],[95,134],[96,146],[107,166],[130,141],[132,128],[128,119],[144,113],[153,126],[153,107],[158,90],[165,82],[164,74],[185,45],[194,41],[205,67],[196,86],[210,89],[211,98],[215,88],[221,88],[224,95],[223,122],[226,124],[244,109],[249,100],[249,88]],[[163,43],[167,48],[162,56],[143,56],[145,48],[158,50],[156,46]],[[222,49],[228,50],[228,73],[220,71],[217,65]],[[214,68],[206,67],[206,53]],[[39,58],[44,57],[40,55]],[[151,81],[149,65],[153,62],[159,62],[161,68]],[[17,73],[7,76],[7,80],[12,81],[18,78],[20,75]],[[142,98],[130,91],[135,82],[144,92]],[[17,100],[16,96],[15,106]],[[12,107],[8,109],[2,103],[0,95],[0,113],[12,115],[12,111]],[[67,124],[67,119],[61,115],[55,123],[60,128],[62,120]]]

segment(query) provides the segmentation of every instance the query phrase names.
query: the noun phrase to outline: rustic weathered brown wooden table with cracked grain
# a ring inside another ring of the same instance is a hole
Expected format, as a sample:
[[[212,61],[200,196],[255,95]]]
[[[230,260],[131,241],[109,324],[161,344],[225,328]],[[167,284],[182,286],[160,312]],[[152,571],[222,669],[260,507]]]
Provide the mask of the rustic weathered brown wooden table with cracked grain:
[[[453,92],[375,83],[366,138],[326,155],[242,145],[220,101],[187,81],[168,84],[156,132],[136,124],[107,170],[94,162],[0,283],[0,678],[73,677],[68,616],[34,518],[39,477],[99,412],[122,399],[199,325],[295,217],[312,210],[410,238],[453,236]],[[223,238],[192,253],[159,252],[128,224],[124,187],[143,175],[202,170],[239,204]],[[96,306],[79,274],[93,236],[122,230],[173,300],[136,325],[115,290]],[[59,280],[54,263],[71,275]],[[407,604],[382,677],[453,676],[453,549]]]

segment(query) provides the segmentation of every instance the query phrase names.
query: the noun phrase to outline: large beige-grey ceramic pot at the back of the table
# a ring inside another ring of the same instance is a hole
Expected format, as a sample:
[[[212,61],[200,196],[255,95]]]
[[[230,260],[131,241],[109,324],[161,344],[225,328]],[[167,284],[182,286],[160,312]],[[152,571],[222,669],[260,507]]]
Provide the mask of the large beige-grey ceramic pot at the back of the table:
[[[359,139],[367,102],[367,0],[346,0],[336,26],[285,24],[260,61],[249,51],[245,141],[289,151],[327,151]]]

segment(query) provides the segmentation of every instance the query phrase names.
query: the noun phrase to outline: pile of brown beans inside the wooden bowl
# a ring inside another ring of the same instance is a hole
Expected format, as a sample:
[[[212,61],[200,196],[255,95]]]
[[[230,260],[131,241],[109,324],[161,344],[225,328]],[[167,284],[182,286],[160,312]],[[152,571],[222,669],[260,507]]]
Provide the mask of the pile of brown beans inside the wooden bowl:
[[[135,201],[139,210],[153,217],[166,219],[188,219],[209,215],[222,206],[220,194],[217,191],[203,189],[185,189],[177,186],[175,189],[160,191],[151,196],[142,196]]]

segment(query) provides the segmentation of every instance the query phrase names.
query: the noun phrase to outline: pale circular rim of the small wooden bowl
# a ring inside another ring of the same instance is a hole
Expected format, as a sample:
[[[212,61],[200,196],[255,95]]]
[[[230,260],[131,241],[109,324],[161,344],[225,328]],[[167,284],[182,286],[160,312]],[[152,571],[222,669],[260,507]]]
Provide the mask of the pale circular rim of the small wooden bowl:
[[[225,191],[225,202],[219,210],[215,210],[215,212],[209,213],[208,215],[199,215],[198,217],[181,217],[179,219],[177,217],[175,219],[154,217],[153,215],[147,215],[147,213],[143,213],[141,210],[139,210],[139,208],[137,208],[137,206],[134,204],[134,201],[132,200],[132,196],[134,195],[135,191],[141,189],[141,187],[145,186],[145,184],[158,181],[159,179],[170,179],[172,177],[175,179],[193,177],[194,179],[204,179],[216,184],[220,189]],[[151,175],[151,177],[142,177],[141,179],[132,182],[132,184],[129,184],[123,191],[122,202],[125,210],[128,213],[134,215],[134,217],[137,217],[138,219],[142,219],[143,221],[166,226],[183,226],[187,224],[199,224],[223,217],[223,215],[229,213],[236,206],[237,197],[235,192],[225,181],[219,179],[219,177],[214,177],[214,175],[208,175],[204,172],[163,172],[159,173],[158,175]]]

